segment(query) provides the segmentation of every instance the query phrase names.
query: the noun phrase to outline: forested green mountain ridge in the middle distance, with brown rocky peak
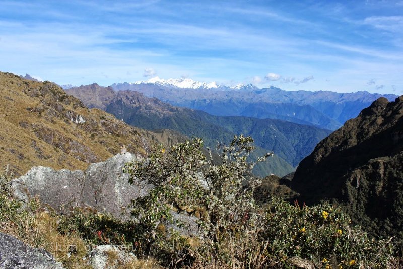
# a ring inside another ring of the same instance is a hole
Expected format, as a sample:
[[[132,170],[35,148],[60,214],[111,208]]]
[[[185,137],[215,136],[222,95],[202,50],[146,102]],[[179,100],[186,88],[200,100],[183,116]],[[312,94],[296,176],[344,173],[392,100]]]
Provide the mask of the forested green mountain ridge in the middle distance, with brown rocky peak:
[[[97,89],[94,90],[94,87]],[[274,150],[278,157],[291,164],[279,160],[276,170],[272,170],[283,175],[291,172],[292,166],[295,167],[312,151],[320,139],[330,133],[328,130],[281,120],[214,116],[203,111],[175,107],[136,91],[118,91],[111,97],[110,87],[97,84],[66,91],[83,101],[87,100],[84,103],[89,106],[98,104],[98,107],[133,126],[151,130],[159,128],[177,130],[189,137],[203,138],[205,145],[212,148],[217,143],[229,143],[234,134],[250,135],[259,146],[257,149],[259,154]],[[94,94],[95,92],[97,94]],[[279,166],[287,169],[279,170]]]

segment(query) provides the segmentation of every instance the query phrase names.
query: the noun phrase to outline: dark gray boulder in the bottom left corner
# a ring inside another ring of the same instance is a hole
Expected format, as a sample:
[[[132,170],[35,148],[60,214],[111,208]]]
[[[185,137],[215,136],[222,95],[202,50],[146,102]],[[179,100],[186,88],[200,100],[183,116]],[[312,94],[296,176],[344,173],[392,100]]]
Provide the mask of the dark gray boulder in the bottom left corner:
[[[0,246],[0,268],[64,268],[46,250],[32,248],[11,235],[0,233]]]

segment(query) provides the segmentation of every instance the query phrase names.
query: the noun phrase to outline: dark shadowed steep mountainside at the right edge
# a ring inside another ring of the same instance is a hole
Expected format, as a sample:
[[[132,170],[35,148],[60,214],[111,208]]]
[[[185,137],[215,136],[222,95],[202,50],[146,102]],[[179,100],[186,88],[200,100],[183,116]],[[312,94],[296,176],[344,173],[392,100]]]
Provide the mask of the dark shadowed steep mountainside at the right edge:
[[[335,199],[358,224],[403,238],[403,96],[379,98],[301,161],[291,188],[301,201]]]

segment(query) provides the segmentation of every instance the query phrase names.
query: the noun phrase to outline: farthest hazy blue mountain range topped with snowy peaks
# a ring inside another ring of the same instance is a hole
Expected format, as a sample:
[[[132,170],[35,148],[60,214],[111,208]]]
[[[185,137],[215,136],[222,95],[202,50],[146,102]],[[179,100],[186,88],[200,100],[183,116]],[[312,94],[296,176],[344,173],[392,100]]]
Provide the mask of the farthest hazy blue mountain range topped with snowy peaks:
[[[165,81],[166,82],[166,81]],[[206,84],[208,85],[208,84]],[[134,90],[174,106],[203,110],[216,116],[247,116],[282,119],[324,129],[337,129],[356,117],[379,97],[394,100],[393,94],[335,93],[330,91],[284,91],[276,87],[259,89],[254,85],[233,87],[183,88],[148,80],[114,83],[114,90]]]

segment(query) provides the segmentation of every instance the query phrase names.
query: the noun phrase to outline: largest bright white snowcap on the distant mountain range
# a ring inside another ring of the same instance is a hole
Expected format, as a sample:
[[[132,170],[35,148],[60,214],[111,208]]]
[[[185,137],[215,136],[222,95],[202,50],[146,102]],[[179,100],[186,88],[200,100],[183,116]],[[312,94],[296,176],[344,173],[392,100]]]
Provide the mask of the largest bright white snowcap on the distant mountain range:
[[[154,77],[146,81],[136,81],[133,84],[160,84],[163,86],[170,86],[176,88],[190,88],[190,89],[211,89],[211,88],[218,88],[217,84],[213,81],[210,83],[194,81],[192,79],[160,79],[159,77]]]

